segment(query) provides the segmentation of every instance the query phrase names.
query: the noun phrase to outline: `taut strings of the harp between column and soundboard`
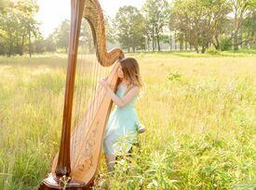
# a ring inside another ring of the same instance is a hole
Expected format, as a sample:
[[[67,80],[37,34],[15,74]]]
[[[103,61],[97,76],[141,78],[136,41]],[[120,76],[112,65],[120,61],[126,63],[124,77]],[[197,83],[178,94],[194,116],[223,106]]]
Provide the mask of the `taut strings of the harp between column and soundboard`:
[[[85,136],[88,133],[93,118],[101,104],[104,95],[102,87],[99,86],[100,78],[105,78],[110,68],[103,68],[96,57],[96,49],[92,42],[92,33],[86,19],[83,19],[80,32],[79,61],[77,61],[75,77],[75,104],[73,128],[78,133],[74,133],[72,139],[72,168],[76,167],[77,160],[81,154],[81,149],[86,144]],[[97,39],[101,40],[101,39]],[[87,43],[88,42],[88,43]],[[94,100],[94,101],[93,101]],[[94,104],[89,105],[90,102]],[[87,155],[84,155],[86,157]]]

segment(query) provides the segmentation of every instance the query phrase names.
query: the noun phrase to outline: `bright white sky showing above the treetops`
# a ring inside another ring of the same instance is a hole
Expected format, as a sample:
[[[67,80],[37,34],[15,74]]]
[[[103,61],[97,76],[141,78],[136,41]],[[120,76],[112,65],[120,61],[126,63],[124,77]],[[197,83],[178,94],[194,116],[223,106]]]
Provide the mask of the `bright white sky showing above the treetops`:
[[[100,0],[101,8],[114,18],[120,6],[141,6],[146,0]],[[40,31],[44,37],[54,31],[64,19],[70,19],[71,0],[38,0],[40,6],[35,19],[41,22]]]

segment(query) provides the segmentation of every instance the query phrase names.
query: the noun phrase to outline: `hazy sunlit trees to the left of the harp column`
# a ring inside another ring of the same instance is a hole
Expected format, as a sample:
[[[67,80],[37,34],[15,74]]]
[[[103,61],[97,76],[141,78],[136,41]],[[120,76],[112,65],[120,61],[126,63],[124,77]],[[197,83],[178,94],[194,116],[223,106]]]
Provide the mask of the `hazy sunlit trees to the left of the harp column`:
[[[67,51],[70,21],[65,19],[59,28],[44,39],[40,22],[35,19],[39,10],[37,0],[0,0],[0,55],[7,57],[28,53]]]

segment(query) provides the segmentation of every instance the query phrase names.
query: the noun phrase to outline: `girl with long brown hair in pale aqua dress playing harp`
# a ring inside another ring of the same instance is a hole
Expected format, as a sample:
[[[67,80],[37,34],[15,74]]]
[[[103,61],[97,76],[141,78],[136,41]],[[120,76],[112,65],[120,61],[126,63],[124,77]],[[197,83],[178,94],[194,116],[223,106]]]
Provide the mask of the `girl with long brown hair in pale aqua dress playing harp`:
[[[137,140],[138,132],[145,131],[134,108],[141,89],[141,75],[137,60],[132,57],[122,59],[118,68],[118,77],[121,82],[116,94],[105,80],[100,81],[116,105],[108,120],[104,138],[104,150],[110,171],[115,166],[115,156],[128,153]]]

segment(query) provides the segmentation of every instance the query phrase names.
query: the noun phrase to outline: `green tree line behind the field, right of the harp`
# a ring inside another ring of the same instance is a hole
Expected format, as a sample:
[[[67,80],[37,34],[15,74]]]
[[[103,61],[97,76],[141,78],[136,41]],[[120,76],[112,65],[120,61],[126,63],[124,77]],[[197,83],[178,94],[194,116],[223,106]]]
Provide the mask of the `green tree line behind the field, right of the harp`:
[[[113,23],[128,51],[256,48],[255,0],[146,0],[141,10],[120,7]]]

